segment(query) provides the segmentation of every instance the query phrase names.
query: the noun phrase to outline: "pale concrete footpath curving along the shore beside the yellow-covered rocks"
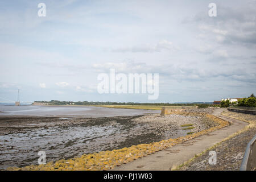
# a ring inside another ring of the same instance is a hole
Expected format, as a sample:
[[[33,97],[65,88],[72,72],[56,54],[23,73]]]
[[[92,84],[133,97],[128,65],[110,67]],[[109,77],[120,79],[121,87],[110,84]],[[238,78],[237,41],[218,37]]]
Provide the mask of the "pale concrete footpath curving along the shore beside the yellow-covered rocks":
[[[229,135],[236,133],[236,131],[243,129],[243,127],[248,125],[246,122],[221,115],[222,111],[224,111],[224,109],[216,109],[214,110],[213,115],[216,115],[225,121],[232,122],[232,125],[213,131],[209,134],[202,135],[201,137],[188,140],[187,142],[177,144],[176,146],[156,152],[155,154],[134,160],[133,162],[123,164],[122,166],[115,167],[113,171],[171,170],[173,166],[183,164],[187,160],[193,158],[196,154],[200,154],[200,152],[207,150],[209,147],[221,142],[221,140],[229,137]]]

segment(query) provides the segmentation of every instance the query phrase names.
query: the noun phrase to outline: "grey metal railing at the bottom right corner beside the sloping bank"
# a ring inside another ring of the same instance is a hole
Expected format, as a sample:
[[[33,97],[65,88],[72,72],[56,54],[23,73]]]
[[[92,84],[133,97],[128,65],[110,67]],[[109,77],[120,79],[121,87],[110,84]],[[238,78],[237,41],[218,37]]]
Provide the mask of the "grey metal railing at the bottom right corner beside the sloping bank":
[[[256,170],[256,135],[247,144],[240,171]]]

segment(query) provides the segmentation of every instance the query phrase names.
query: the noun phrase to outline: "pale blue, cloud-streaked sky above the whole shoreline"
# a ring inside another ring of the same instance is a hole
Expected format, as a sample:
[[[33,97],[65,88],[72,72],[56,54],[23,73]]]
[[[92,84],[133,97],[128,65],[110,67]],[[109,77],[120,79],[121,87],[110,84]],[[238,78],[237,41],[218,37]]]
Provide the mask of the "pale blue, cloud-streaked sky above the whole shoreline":
[[[38,16],[39,3],[46,16]],[[209,3],[217,16],[210,17]],[[0,1],[0,101],[212,102],[256,93],[256,1]],[[100,73],[159,73],[159,97]]]

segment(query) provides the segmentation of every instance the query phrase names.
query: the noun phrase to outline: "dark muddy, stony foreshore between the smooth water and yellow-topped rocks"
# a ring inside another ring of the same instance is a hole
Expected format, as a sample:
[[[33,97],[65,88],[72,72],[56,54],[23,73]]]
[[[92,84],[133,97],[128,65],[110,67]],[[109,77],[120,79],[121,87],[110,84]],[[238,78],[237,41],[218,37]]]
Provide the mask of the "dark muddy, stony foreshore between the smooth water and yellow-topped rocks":
[[[116,110],[116,109],[115,109]],[[184,130],[181,125],[193,125]],[[147,114],[117,117],[0,117],[0,169],[38,164],[177,138],[214,126],[204,117]]]

